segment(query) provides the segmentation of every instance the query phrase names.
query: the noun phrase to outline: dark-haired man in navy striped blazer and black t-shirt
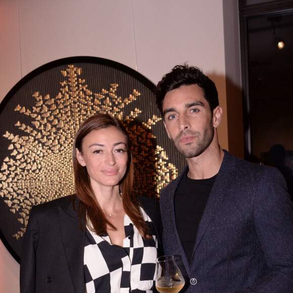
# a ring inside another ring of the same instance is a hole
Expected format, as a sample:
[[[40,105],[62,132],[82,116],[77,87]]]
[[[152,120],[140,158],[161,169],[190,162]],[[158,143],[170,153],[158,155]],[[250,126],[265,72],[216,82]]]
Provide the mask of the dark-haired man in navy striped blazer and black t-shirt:
[[[164,251],[184,276],[182,292],[292,293],[293,205],[280,172],[220,148],[218,92],[200,69],[175,66],[156,99],[187,161],[160,198]]]

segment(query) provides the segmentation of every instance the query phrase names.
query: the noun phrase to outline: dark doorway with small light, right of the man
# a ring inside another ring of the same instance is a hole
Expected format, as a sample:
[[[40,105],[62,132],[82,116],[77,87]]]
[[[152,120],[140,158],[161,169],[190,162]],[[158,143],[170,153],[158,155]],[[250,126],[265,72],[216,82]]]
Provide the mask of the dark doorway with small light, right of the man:
[[[239,1],[246,159],[292,185],[293,2],[253,2]]]

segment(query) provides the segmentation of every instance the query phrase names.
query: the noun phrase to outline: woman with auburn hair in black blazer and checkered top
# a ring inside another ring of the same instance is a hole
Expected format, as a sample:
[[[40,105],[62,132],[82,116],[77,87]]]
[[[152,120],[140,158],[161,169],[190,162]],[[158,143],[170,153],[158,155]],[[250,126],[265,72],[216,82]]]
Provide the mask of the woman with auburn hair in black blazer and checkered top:
[[[73,168],[74,196],[31,209],[21,292],[155,291],[161,217],[156,200],[134,196],[123,124],[107,114],[84,121]]]

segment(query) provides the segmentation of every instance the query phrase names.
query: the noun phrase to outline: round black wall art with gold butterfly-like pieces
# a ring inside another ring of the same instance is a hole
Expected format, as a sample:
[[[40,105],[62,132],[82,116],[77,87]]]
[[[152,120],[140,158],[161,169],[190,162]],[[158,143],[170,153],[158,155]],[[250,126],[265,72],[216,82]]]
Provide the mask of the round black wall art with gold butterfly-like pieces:
[[[159,197],[182,171],[154,88],[120,63],[72,57],[37,68],[7,94],[0,105],[0,235],[18,262],[31,207],[74,193],[73,139],[93,114],[109,113],[128,129],[140,194]]]

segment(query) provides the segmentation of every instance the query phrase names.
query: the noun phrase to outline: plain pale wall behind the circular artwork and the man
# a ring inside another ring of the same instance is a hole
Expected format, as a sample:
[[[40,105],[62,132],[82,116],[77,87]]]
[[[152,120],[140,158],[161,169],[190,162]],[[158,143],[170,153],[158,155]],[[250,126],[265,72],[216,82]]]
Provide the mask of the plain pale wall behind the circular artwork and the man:
[[[0,101],[26,74],[60,58],[111,59],[154,83],[188,61],[218,87],[219,140],[228,149],[223,1],[0,0]],[[18,282],[19,265],[1,242],[0,292],[18,292]]]

